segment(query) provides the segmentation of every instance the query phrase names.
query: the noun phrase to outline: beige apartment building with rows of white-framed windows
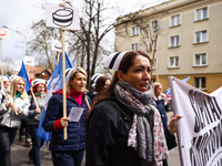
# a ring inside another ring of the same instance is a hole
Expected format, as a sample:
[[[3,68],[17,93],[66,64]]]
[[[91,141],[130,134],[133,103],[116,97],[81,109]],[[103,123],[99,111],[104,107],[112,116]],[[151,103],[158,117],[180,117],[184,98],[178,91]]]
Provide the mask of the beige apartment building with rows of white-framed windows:
[[[117,21],[132,14],[138,20],[115,29],[115,51],[142,50],[152,58],[153,39],[152,79],[164,90],[170,75],[191,76],[188,83],[206,93],[222,86],[222,0],[171,0]]]

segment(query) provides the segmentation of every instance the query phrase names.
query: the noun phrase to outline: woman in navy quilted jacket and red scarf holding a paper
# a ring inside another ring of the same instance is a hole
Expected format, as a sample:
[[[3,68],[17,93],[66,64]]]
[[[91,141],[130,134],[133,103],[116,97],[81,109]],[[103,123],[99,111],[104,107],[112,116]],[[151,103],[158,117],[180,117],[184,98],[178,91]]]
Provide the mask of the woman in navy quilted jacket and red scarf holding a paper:
[[[81,166],[87,137],[85,116],[90,110],[85,84],[87,72],[81,68],[73,70],[67,84],[67,117],[63,117],[62,90],[49,100],[42,127],[52,133],[49,149],[54,166]],[[71,115],[80,118],[74,120]],[[64,127],[67,139],[63,139]]]

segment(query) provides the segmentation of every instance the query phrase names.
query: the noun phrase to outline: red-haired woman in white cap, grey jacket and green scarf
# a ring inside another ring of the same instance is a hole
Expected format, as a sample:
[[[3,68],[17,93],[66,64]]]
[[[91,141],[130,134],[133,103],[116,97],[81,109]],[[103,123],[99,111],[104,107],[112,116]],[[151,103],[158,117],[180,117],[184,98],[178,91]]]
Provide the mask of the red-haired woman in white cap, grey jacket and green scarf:
[[[34,97],[32,95],[29,95],[30,97],[30,107],[29,107],[29,133],[31,135],[32,141],[32,148],[29,152],[29,159],[31,163],[33,163],[34,166],[40,166],[40,148],[44,144],[44,141],[37,136],[39,122],[42,114],[42,108],[44,107],[46,100],[47,100],[47,86],[46,81],[42,79],[36,79],[32,81],[33,86],[32,91],[34,94]],[[36,102],[38,106],[36,105]]]

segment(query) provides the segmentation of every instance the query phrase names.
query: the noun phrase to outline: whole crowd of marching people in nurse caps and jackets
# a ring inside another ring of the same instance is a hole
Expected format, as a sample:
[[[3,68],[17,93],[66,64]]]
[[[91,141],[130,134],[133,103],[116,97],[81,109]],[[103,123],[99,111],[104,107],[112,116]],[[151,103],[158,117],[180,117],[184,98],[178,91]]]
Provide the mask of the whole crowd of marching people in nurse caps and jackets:
[[[81,166],[84,154],[87,166],[168,166],[168,151],[176,146],[174,133],[182,116],[168,122],[171,98],[162,93],[161,83],[151,85],[149,55],[142,51],[112,53],[104,68],[114,72],[112,79],[92,75],[90,91],[85,89],[87,72],[79,66],[68,69],[65,91],[57,90],[50,98],[46,80],[34,79],[27,92],[23,77],[3,76],[0,164],[11,165],[10,148],[20,129],[19,139],[31,146],[27,159],[41,165],[44,139],[37,133],[47,104],[42,127],[51,133],[49,151],[54,166]]]

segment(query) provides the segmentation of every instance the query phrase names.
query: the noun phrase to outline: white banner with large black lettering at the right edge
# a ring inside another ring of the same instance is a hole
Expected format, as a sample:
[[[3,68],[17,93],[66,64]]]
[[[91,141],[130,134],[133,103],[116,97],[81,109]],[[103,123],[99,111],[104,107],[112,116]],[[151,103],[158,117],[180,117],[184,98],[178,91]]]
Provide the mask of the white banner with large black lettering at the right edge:
[[[169,77],[182,166],[222,166],[222,91],[204,93]]]

